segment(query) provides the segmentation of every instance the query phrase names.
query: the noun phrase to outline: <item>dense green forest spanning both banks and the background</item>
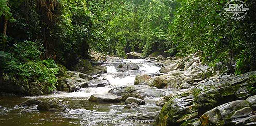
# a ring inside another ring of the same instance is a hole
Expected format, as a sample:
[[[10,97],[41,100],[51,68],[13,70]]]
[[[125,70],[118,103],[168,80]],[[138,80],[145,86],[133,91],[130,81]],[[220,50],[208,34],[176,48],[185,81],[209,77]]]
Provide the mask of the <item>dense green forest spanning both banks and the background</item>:
[[[223,73],[256,70],[256,1],[230,19],[227,0],[0,0],[0,74],[55,88],[89,50],[126,57],[197,53]],[[4,79],[1,79],[3,82]]]

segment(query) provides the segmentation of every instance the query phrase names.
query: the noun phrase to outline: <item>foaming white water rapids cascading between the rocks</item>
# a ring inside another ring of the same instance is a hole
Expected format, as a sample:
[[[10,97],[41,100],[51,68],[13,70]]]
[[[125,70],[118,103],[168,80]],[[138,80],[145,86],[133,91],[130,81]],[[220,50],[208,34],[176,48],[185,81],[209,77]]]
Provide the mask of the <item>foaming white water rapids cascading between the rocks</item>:
[[[93,94],[105,94],[108,93],[111,89],[119,85],[133,85],[135,76],[137,74],[154,74],[157,73],[161,68],[153,64],[148,63],[145,59],[127,59],[123,60],[124,63],[135,63],[140,66],[139,70],[141,73],[121,73],[117,72],[114,65],[106,65],[107,73],[102,74],[101,78],[105,77],[110,82],[110,85],[105,87],[92,87],[92,88],[81,88],[79,92],[59,92],[56,94],[49,94],[36,97],[27,97],[27,98],[61,98],[61,97],[90,97]],[[113,62],[114,63],[114,62]],[[118,76],[122,75],[123,76]]]

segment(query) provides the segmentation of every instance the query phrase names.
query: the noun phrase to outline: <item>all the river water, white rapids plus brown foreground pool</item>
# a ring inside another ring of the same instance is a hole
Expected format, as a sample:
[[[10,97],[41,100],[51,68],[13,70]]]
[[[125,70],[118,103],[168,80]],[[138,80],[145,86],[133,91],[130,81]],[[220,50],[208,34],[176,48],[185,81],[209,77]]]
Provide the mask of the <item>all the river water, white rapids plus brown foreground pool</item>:
[[[44,96],[19,97],[19,96],[2,96],[0,97],[0,126],[85,126],[85,125],[152,125],[151,124],[130,124],[126,119],[127,115],[135,112],[155,112],[161,109],[154,103],[157,98],[145,98],[146,105],[139,105],[134,109],[124,109],[124,103],[99,104],[89,102],[92,94],[107,93],[110,89],[118,85],[133,85],[136,74],[135,71],[118,73],[114,66],[117,61],[106,62],[108,73],[103,74],[111,83],[106,87],[82,88],[80,92],[58,92]],[[140,66],[140,73],[154,75],[160,67],[148,63],[145,59],[138,60],[118,60],[118,62],[132,62]],[[138,70],[137,70],[138,72]],[[18,106],[21,102],[36,98],[39,100],[58,99],[68,110],[65,112],[48,112],[39,111],[37,106]],[[111,123],[101,123],[101,121],[112,121]],[[118,121],[118,123],[113,123]],[[122,121],[120,123],[119,121]]]

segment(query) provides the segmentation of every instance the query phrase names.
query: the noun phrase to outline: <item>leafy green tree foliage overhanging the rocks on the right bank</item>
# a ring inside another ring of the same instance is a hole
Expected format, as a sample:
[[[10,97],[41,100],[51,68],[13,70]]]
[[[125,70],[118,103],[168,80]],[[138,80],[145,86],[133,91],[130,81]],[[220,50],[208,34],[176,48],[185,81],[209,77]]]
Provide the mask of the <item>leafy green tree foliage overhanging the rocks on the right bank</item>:
[[[250,11],[242,20],[225,15],[227,2],[182,1],[169,28],[171,42],[178,55],[200,50],[203,62],[225,73],[256,70],[255,1],[245,1]]]

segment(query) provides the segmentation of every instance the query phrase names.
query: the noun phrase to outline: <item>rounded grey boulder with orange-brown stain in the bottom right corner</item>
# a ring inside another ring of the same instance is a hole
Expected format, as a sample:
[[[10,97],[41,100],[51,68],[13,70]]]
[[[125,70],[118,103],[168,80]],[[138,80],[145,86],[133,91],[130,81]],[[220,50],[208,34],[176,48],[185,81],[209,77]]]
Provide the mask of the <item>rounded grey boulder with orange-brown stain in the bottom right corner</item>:
[[[220,105],[205,114],[200,118],[203,125],[228,125],[231,121],[236,122],[235,125],[243,122],[236,119],[245,118],[252,114],[252,108],[246,100],[237,100]],[[244,125],[244,124],[243,124]]]

